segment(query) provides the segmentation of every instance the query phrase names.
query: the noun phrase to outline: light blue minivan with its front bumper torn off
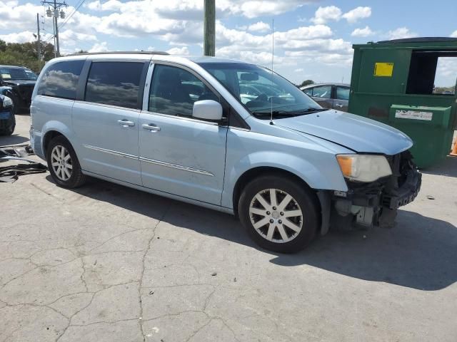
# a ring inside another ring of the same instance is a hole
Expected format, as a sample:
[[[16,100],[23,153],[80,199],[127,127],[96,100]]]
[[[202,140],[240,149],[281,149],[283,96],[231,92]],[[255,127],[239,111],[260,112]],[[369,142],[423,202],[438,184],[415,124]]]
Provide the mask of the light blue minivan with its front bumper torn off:
[[[323,109],[240,61],[56,58],[36,83],[31,120],[31,145],[57,185],[91,176],[235,214],[276,252],[329,227],[392,224],[421,187],[406,135]]]

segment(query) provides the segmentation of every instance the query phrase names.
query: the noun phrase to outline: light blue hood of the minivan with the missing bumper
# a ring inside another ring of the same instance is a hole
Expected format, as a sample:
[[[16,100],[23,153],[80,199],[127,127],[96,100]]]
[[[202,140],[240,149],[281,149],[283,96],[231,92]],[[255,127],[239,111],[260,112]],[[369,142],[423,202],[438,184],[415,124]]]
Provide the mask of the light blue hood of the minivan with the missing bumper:
[[[335,142],[355,152],[396,155],[413,145],[408,135],[396,128],[338,110],[278,119],[275,124]]]

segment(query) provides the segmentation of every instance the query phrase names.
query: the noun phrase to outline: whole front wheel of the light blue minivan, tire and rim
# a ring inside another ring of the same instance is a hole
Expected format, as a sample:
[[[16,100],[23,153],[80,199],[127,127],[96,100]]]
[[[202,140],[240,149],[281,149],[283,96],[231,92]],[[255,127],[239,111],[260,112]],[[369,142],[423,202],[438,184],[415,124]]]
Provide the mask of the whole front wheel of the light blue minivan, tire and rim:
[[[261,247],[295,253],[306,247],[318,229],[316,195],[280,175],[256,178],[244,187],[238,213],[251,238]]]

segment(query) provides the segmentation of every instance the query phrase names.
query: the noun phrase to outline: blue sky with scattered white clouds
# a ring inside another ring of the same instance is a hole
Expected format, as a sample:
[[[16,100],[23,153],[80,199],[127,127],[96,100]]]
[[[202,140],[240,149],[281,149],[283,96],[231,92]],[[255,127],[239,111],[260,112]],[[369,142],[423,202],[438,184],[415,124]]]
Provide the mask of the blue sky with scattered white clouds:
[[[84,0],[68,0],[67,17]],[[204,0],[85,0],[70,18],[59,19],[61,52],[147,50],[202,53]],[[456,36],[457,2],[216,0],[216,56],[271,63],[275,26],[275,70],[295,83],[351,78],[353,43],[411,36]],[[0,0],[0,38],[33,41],[39,1]],[[51,19],[44,18],[52,41]],[[457,63],[443,61],[439,83],[453,85]]]

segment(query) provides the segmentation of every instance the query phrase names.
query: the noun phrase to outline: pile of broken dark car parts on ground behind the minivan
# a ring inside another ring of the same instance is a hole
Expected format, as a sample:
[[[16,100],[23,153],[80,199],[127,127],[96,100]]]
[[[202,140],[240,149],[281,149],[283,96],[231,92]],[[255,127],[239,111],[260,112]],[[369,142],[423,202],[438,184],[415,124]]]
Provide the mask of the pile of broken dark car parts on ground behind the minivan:
[[[0,182],[14,182],[21,175],[46,172],[48,170],[46,165],[26,157],[30,153],[31,150],[28,150],[27,147],[0,147],[0,162],[11,160],[26,162],[26,164],[21,163],[0,167]]]

